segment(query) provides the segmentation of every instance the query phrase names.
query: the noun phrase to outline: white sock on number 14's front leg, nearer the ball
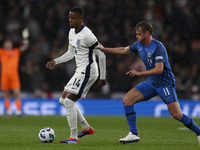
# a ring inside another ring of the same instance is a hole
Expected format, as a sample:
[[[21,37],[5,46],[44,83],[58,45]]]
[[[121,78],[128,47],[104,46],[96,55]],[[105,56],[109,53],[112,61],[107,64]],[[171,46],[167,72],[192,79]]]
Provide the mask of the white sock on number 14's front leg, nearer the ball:
[[[75,102],[65,98],[64,105],[67,111],[67,121],[69,124],[69,127],[71,129],[71,135],[70,138],[78,139],[77,137],[77,112],[75,108]]]

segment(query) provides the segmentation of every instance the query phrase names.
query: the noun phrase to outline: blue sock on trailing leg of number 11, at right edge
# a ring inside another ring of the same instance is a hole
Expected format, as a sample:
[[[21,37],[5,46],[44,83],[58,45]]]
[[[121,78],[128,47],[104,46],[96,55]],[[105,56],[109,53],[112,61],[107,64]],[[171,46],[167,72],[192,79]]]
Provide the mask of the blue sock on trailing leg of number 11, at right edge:
[[[197,136],[200,135],[199,126],[190,117],[188,117],[185,114],[183,114],[183,117],[181,118],[180,122],[182,122],[190,130],[195,132]]]

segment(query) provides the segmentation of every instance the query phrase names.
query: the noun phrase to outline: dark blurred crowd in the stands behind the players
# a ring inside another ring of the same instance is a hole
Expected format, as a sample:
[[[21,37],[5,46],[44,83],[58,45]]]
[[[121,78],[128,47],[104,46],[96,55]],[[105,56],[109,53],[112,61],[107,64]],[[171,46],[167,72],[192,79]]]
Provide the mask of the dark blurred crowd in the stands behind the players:
[[[25,27],[30,30],[30,46],[19,64],[22,98],[59,98],[72,77],[74,60],[54,70],[46,69],[45,64],[66,52],[68,12],[75,5],[84,8],[84,23],[106,47],[132,44],[136,41],[135,25],[150,21],[153,37],[168,51],[178,97],[200,99],[199,0],[1,0],[0,47],[6,38],[20,46],[21,31]],[[88,98],[122,98],[145,80],[125,74],[131,69],[145,69],[138,55],[106,56],[107,85],[99,88],[95,84]]]

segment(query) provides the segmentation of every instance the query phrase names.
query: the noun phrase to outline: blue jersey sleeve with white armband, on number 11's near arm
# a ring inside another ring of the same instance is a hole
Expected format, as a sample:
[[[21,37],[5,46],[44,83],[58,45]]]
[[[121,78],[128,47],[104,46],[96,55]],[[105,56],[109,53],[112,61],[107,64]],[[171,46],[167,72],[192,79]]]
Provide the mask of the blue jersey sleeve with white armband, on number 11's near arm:
[[[155,63],[165,62],[165,47],[162,45],[158,45],[155,51]]]

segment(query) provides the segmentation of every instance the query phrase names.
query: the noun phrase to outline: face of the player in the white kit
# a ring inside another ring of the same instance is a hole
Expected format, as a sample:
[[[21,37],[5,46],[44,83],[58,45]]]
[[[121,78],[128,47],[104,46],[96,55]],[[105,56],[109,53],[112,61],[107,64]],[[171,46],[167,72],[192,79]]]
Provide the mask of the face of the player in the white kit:
[[[69,12],[69,25],[71,28],[79,28],[82,26],[83,17],[75,12]]]

